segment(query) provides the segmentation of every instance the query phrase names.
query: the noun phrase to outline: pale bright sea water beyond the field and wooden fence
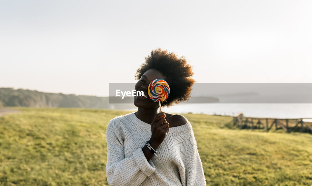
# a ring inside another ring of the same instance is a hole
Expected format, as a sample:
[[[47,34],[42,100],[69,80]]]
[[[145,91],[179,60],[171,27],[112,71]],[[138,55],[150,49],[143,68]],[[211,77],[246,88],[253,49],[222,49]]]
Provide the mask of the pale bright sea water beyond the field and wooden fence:
[[[169,108],[162,107],[161,110],[168,113],[229,116],[243,113],[246,117],[255,118],[310,118],[304,121],[312,122],[312,103],[181,103]]]

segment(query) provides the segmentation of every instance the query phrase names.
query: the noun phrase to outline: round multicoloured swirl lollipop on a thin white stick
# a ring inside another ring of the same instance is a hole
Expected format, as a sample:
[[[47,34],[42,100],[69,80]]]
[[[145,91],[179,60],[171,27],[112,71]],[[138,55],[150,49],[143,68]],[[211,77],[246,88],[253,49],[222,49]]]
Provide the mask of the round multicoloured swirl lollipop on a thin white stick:
[[[160,101],[165,101],[170,93],[168,83],[163,79],[155,79],[149,83],[148,93],[149,98],[154,102],[159,102],[159,109],[161,112]]]

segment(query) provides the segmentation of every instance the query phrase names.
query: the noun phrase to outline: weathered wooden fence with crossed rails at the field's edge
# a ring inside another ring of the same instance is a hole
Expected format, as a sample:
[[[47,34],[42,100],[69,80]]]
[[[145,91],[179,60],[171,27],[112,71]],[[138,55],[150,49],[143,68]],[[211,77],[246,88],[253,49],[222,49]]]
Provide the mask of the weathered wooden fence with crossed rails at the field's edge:
[[[236,125],[240,129],[250,128],[250,129],[266,129],[269,131],[273,125],[275,129],[283,129],[286,133],[296,131],[297,127],[300,126],[300,132],[312,132],[312,127],[309,123],[304,122],[303,119],[312,118],[251,118],[245,117],[243,114],[239,114],[233,117],[233,125]],[[297,130],[298,131],[298,130]]]

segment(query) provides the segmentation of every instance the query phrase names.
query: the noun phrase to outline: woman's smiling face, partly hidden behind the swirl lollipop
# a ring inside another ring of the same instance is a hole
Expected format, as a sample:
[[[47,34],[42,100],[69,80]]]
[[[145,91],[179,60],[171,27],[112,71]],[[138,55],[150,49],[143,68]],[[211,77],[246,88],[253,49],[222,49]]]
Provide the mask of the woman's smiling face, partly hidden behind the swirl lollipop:
[[[138,83],[135,84],[135,90],[143,91],[144,95],[147,96],[147,98],[144,96],[134,97],[134,105],[136,107],[145,109],[153,109],[159,107],[158,102],[154,102],[152,99],[149,98],[147,90],[149,87],[149,83],[151,83],[151,81],[153,81],[154,79],[165,79],[165,77],[158,70],[149,69],[142,75],[142,77],[140,77]]]

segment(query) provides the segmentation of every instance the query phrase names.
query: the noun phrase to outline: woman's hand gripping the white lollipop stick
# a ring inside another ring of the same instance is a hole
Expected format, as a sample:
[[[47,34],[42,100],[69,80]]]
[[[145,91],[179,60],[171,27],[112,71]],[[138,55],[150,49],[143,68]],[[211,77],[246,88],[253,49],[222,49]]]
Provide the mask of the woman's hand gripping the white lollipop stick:
[[[167,133],[169,132],[169,123],[167,123],[165,117],[165,113],[158,113],[151,123],[152,137],[149,140],[149,144],[155,150],[163,142],[163,140],[166,138]]]

